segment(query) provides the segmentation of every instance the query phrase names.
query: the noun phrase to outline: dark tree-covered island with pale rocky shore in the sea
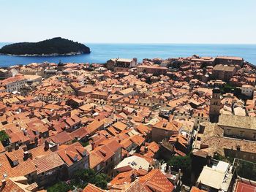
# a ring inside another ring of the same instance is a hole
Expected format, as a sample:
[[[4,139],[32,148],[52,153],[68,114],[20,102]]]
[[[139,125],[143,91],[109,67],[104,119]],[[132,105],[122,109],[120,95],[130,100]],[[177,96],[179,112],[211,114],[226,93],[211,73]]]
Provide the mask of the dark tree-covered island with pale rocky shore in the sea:
[[[19,42],[1,47],[0,54],[19,56],[55,56],[89,54],[86,45],[69,39],[55,37],[41,42]]]

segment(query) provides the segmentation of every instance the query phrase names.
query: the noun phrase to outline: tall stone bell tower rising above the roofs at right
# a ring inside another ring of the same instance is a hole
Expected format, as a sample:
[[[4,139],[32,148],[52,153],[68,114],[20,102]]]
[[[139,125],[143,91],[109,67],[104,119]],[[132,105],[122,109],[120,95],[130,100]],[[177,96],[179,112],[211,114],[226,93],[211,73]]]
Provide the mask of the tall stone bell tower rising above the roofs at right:
[[[214,88],[211,96],[210,105],[210,121],[211,123],[217,123],[219,121],[219,110],[222,108],[222,99],[220,98],[219,88]]]

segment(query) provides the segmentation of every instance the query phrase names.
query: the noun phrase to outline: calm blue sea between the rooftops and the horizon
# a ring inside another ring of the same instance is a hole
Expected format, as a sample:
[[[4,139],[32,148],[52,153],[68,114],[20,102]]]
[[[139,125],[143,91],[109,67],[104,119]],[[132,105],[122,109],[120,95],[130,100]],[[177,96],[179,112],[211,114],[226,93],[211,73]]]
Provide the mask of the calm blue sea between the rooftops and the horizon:
[[[1,43],[0,47],[8,43]],[[0,55],[0,66],[16,64],[42,63],[98,63],[103,64],[110,58],[178,58],[191,55],[217,56],[229,55],[244,58],[256,65],[256,45],[206,45],[206,44],[96,44],[85,43],[91,48],[91,54],[69,56],[21,57]]]

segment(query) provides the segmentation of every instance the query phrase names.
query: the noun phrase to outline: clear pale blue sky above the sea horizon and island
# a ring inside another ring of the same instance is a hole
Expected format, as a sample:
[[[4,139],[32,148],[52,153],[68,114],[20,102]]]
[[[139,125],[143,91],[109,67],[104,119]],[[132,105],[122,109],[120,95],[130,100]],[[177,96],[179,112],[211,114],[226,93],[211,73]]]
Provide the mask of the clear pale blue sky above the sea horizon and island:
[[[0,42],[256,44],[256,0],[0,0]]]

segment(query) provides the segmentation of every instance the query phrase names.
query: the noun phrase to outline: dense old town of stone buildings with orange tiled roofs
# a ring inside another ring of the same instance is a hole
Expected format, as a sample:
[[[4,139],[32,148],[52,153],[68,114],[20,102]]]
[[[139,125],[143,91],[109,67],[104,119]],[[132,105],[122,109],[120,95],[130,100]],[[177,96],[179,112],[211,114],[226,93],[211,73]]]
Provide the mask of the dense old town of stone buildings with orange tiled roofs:
[[[242,58],[115,58],[0,72],[0,191],[44,191],[80,169],[111,178],[107,189],[83,191],[255,186],[233,161],[214,159],[256,161],[256,70]],[[189,154],[200,172],[185,186],[186,173],[167,161]]]

